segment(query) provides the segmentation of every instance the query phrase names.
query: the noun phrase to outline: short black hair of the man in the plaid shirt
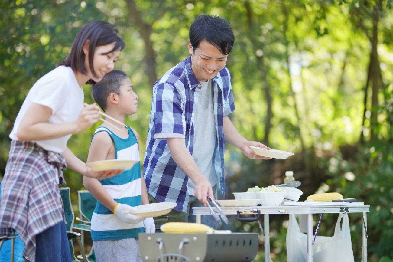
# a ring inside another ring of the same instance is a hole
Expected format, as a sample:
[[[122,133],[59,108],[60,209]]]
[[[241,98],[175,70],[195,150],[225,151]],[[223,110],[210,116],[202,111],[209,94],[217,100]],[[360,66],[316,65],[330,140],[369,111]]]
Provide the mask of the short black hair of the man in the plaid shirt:
[[[193,50],[198,48],[200,41],[206,40],[224,55],[231,52],[235,42],[231,24],[224,18],[212,15],[198,16],[190,26],[189,37]]]

